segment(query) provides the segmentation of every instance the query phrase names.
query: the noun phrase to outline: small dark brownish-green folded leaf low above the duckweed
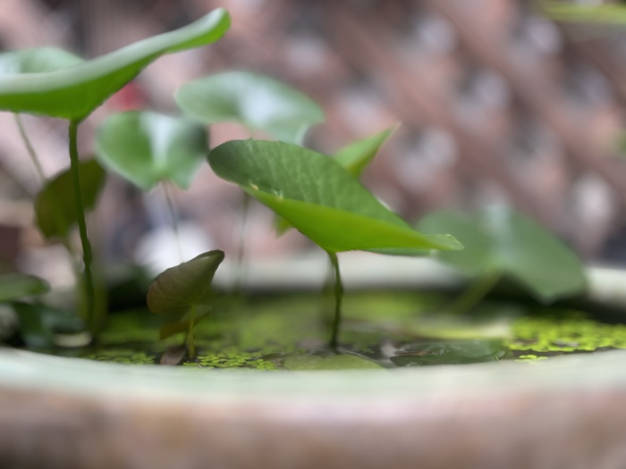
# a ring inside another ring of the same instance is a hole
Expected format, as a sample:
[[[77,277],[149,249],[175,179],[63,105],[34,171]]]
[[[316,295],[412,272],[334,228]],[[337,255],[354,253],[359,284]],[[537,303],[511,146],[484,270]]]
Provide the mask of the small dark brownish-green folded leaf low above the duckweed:
[[[186,313],[193,306],[208,306],[209,286],[223,260],[223,251],[209,251],[160,273],[148,288],[148,309],[154,314]]]

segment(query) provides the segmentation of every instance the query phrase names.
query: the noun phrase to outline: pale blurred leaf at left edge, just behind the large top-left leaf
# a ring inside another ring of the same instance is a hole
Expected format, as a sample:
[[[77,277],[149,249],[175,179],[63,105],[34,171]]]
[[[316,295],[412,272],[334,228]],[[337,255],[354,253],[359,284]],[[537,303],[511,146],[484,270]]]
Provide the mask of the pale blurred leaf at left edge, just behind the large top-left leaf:
[[[56,47],[40,47],[0,54],[0,75],[61,70],[84,62],[78,55]]]

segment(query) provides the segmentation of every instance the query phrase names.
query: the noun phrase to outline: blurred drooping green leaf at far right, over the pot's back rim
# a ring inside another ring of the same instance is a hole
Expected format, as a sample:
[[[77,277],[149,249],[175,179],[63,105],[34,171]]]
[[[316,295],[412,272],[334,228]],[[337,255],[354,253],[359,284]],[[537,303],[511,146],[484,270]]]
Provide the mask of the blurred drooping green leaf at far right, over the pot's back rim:
[[[519,281],[541,301],[576,295],[587,287],[584,265],[570,248],[537,222],[506,207],[491,207],[474,217],[442,212],[425,217],[419,230],[446,230],[465,250],[438,253],[470,276],[502,272]]]

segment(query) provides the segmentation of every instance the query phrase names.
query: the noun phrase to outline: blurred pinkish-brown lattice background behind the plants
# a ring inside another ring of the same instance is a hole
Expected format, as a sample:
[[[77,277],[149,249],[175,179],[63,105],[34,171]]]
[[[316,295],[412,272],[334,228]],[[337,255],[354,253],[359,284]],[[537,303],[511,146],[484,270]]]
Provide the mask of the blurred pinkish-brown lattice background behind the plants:
[[[306,142],[318,151],[333,153],[401,122],[364,182],[407,220],[504,202],[585,259],[626,264],[626,28],[551,21],[522,0],[0,0],[0,49],[60,46],[93,57],[218,6],[233,16],[225,37],[150,65],[89,117],[82,155],[93,151],[93,132],[109,113],[177,113],[173,91],[185,81],[256,71],[324,108],[326,123]],[[66,124],[24,122],[47,175],[66,167]],[[31,197],[41,183],[13,116],[0,113],[0,129],[0,257],[27,272],[49,268],[48,279],[71,278],[69,265],[56,271],[55,247],[33,227]],[[211,128],[212,147],[230,138],[247,132]],[[238,188],[207,166],[174,198],[191,254],[236,253]],[[112,175],[91,221],[100,254],[140,263],[167,256],[163,200]],[[296,232],[276,239],[272,220],[261,207],[252,211],[250,255],[313,249]]]

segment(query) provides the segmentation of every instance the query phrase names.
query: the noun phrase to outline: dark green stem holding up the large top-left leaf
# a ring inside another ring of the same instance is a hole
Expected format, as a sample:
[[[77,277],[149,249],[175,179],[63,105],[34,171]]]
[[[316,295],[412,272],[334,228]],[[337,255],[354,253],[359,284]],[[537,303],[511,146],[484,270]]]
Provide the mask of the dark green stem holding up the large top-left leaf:
[[[91,253],[91,244],[87,234],[87,222],[85,220],[85,203],[82,200],[82,190],[80,189],[80,171],[79,171],[79,155],[78,155],[78,127],[80,121],[70,121],[70,170],[72,172],[72,180],[74,185],[74,201],[76,203],[76,219],[79,225],[80,244],[82,245],[82,262],[84,268],[85,280],[85,300],[86,300],[86,317],[90,331],[94,331],[96,327],[96,302],[93,274],[91,272],[91,262],[93,255]]]

